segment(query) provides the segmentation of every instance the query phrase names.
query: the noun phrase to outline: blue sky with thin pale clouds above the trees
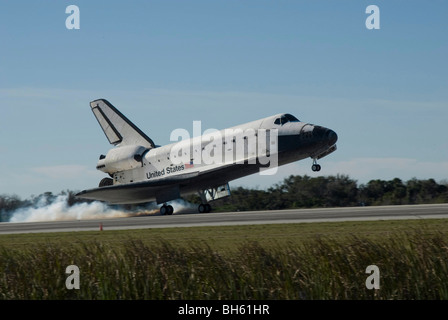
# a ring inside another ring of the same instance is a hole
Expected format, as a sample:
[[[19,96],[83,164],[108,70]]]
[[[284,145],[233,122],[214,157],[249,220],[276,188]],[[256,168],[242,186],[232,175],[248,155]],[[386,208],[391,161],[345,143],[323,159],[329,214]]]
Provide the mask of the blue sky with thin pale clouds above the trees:
[[[68,30],[68,5],[80,29]],[[366,7],[380,9],[368,30]],[[0,194],[95,187],[105,98],[156,144],[288,112],[334,129],[319,175],[448,179],[446,1],[0,1]],[[311,160],[232,186],[308,174]]]

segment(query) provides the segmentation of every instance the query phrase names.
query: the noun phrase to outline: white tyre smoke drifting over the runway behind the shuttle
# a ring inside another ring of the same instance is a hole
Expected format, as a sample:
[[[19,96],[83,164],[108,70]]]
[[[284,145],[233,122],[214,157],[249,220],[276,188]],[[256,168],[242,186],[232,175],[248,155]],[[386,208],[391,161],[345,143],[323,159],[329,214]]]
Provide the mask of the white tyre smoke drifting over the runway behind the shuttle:
[[[37,204],[31,207],[15,210],[12,213],[9,222],[87,220],[159,213],[159,206],[155,204],[126,210],[117,209],[99,201],[77,203],[70,206],[67,198],[67,195],[59,195],[51,203],[47,203],[47,199],[42,198]],[[170,204],[173,206],[175,213],[194,208],[194,205],[183,200],[176,200]]]

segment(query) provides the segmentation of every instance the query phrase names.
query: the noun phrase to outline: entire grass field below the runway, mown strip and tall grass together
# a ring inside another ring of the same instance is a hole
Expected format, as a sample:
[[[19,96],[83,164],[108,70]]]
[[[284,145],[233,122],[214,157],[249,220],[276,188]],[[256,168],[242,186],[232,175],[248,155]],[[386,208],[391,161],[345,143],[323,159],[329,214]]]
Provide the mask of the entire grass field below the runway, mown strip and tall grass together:
[[[447,299],[447,235],[448,219],[1,235],[0,298]]]

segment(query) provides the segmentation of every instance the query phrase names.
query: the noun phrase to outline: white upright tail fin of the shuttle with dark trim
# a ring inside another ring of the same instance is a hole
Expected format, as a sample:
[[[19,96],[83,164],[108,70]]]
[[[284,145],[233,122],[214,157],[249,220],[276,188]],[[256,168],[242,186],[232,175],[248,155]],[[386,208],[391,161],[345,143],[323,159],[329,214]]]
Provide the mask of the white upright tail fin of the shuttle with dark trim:
[[[98,99],[90,102],[90,107],[110,144],[155,147],[154,142],[109,101]]]

